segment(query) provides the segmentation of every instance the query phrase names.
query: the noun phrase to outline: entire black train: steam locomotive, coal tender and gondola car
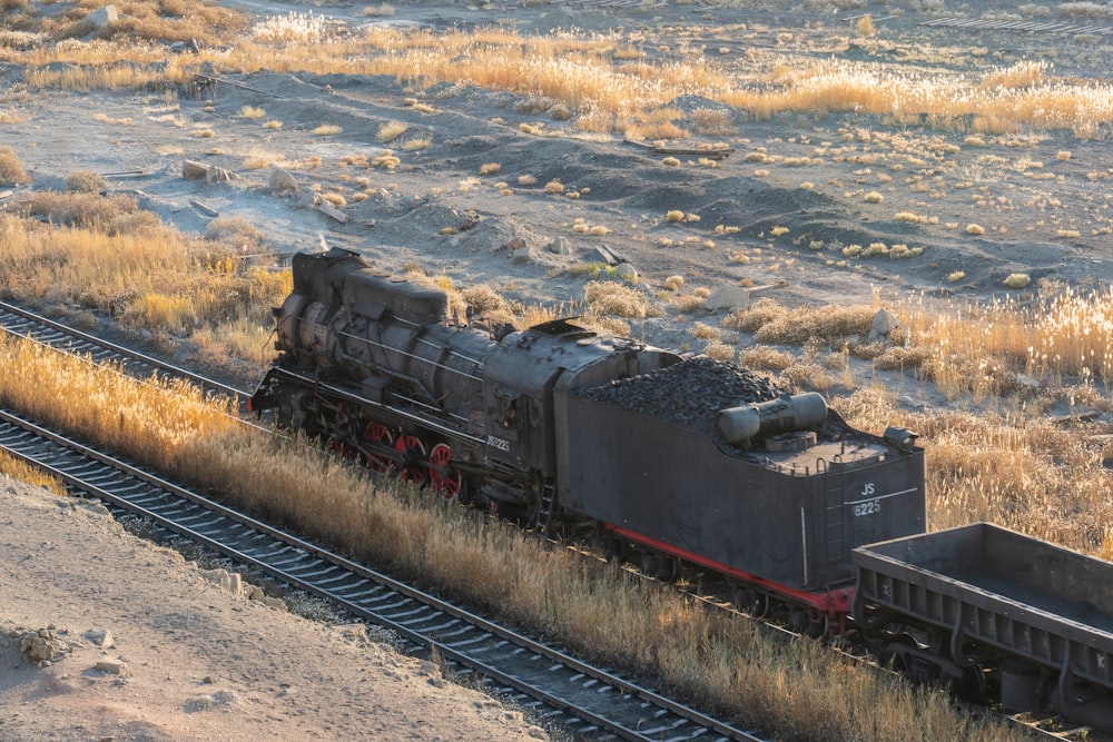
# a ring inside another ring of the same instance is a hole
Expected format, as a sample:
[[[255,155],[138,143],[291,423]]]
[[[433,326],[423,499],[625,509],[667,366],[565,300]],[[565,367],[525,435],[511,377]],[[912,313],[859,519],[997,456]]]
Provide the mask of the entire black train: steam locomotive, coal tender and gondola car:
[[[355,253],[298,254],[248,405],[380,472],[843,634],[925,682],[1113,731],[1113,564],[978,524],[926,534],[915,434],[729,364],[447,316]],[[992,687],[991,687],[992,686]]]

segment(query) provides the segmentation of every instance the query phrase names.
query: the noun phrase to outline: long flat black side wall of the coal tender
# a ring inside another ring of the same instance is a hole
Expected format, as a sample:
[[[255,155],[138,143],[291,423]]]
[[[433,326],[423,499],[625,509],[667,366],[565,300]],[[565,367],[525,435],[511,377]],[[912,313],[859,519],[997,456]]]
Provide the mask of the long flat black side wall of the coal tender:
[[[849,575],[845,561],[814,556],[826,526],[811,477],[747,464],[671,423],[555,396],[563,507],[792,588]]]

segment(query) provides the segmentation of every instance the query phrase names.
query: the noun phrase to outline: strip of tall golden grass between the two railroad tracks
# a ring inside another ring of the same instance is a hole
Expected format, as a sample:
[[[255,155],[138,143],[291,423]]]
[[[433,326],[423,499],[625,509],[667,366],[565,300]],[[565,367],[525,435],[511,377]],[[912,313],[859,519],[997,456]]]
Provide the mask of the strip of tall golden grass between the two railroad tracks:
[[[548,550],[516,528],[437,506],[396,483],[375,487],[361,471],[301,442],[238,425],[226,407],[187,386],[141,384],[12,340],[0,343],[0,404],[297,524],[778,739],[1011,739],[959,718],[940,693],[849,666],[812,643],[772,641],[741,617]]]

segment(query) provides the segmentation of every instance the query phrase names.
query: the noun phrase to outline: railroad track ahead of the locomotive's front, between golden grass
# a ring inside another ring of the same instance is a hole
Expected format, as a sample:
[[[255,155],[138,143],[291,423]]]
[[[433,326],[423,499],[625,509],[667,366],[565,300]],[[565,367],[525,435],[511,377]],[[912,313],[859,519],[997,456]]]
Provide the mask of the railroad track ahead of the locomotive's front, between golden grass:
[[[98,364],[119,364],[125,373],[136,378],[158,376],[160,378],[186,379],[210,394],[232,397],[237,402],[240,410],[245,409],[247,398],[250,396],[248,392],[179,368],[138,350],[116,345],[7,301],[0,301],[0,329],[16,337],[32,339],[56,350],[88,355]]]

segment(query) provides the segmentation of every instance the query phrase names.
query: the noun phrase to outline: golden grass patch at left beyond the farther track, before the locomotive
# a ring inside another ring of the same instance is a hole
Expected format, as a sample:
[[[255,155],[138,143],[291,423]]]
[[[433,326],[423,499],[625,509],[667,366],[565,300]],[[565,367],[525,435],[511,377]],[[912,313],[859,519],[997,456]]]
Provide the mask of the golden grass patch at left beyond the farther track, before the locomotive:
[[[288,270],[273,271],[242,257],[245,235],[255,233],[228,222],[203,240],[92,194],[55,200],[68,206],[49,210],[50,218],[70,226],[0,216],[4,296],[76,305],[115,316],[126,329],[193,339],[214,359],[232,352],[262,360],[273,329],[270,308],[290,291],[293,278]]]

